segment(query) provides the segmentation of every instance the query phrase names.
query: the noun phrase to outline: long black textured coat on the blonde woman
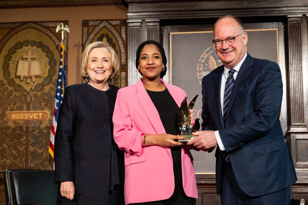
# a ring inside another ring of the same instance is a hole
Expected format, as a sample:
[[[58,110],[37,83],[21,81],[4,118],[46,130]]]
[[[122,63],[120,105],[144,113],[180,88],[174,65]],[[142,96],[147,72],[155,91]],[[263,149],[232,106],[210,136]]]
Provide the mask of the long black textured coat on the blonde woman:
[[[107,91],[87,83],[65,89],[55,135],[55,182],[59,189],[62,181],[74,182],[75,196],[70,201],[58,190],[57,204],[109,204],[112,189],[118,191],[118,204],[124,204],[124,153],[114,143],[112,124],[119,88],[109,86]],[[114,155],[118,170],[112,171]],[[112,173],[119,173],[120,185],[111,186]]]

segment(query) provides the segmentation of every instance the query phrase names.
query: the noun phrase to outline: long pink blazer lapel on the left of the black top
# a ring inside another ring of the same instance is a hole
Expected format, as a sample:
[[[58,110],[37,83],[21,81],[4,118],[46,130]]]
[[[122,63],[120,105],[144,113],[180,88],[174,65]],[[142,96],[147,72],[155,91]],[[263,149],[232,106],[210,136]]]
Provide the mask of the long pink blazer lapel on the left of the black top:
[[[150,120],[154,130],[156,131],[157,134],[166,133],[163,123],[160,120],[158,111],[155,105],[153,104],[150,96],[148,95],[147,91],[144,89],[141,78],[139,79],[139,81],[137,81],[136,88],[137,88],[137,97],[140,101],[140,104],[144,110],[145,115]]]

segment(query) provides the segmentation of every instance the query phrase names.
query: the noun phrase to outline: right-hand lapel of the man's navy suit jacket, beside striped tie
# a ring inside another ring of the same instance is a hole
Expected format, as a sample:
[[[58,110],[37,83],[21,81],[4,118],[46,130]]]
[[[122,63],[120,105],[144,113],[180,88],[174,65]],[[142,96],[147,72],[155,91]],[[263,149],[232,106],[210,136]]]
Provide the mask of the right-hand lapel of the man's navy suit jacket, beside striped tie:
[[[247,53],[247,57],[244,60],[243,64],[241,65],[241,68],[237,74],[235,83],[232,88],[232,92],[230,94],[230,100],[229,100],[229,105],[228,105],[228,111],[227,111],[227,118],[229,116],[229,112],[232,109],[232,105],[234,102],[234,99],[237,95],[238,90],[240,89],[241,85],[251,72],[251,66],[253,65],[253,58]],[[228,119],[226,119],[227,121]]]

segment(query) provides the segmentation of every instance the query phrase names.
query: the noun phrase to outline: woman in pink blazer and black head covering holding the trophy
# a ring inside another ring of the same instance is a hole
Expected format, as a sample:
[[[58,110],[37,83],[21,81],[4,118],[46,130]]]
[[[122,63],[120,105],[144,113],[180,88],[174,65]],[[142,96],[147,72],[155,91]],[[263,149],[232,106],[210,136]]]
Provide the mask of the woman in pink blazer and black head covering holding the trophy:
[[[143,78],[118,91],[114,139],[125,150],[125,204],[193,204],[198,198],[193,157],[182,139],[177,112],[185,92],[161,78],[167,59],[159,42],[137,49]]]

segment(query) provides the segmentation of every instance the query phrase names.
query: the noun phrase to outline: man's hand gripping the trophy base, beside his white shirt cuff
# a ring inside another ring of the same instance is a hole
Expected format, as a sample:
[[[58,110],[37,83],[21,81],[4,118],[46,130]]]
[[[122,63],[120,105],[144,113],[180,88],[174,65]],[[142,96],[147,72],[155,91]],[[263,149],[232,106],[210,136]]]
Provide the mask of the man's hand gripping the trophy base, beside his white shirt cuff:
[[[197,136],[190,140],[187,145],[195,146],[202,151],[213,150],[217,145],[217,140],[214,131],[197,131],[193,132],[193,135]]]

